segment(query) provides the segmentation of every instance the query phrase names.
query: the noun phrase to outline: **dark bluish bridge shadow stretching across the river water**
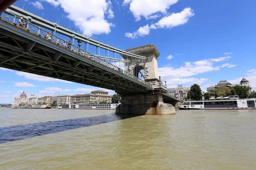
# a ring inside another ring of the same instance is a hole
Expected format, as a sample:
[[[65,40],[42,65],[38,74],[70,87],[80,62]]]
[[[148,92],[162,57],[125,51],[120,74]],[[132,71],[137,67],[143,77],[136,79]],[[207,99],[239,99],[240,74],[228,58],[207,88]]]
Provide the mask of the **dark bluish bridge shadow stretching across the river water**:
[[[27,139],[36,136],[47,135],[49,133],[62,132],[65,130],[72,130],[80,127],[99,125],[102,123],[114,122],[136,116],[138,115],[109,114],[78,119],[33,123],[29,125],[0,127],[0,143],[12,142],[20,139]]]

